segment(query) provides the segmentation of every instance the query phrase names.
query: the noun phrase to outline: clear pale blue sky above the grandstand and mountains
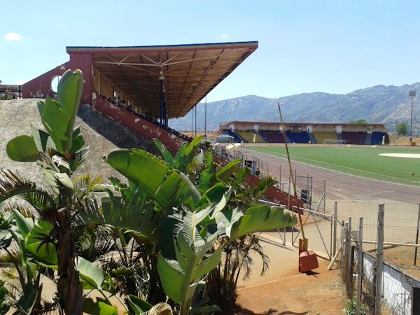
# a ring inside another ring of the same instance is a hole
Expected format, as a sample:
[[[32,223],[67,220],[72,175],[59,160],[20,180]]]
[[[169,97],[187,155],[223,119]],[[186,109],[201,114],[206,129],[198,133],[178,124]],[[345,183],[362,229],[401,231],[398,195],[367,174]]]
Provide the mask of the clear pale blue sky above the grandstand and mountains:
[[[0,80],[8,84],[66,62],[66,45],[223,41],[259,48],[208,102],[420,80],[420,1],[13,0],[0,8]]]

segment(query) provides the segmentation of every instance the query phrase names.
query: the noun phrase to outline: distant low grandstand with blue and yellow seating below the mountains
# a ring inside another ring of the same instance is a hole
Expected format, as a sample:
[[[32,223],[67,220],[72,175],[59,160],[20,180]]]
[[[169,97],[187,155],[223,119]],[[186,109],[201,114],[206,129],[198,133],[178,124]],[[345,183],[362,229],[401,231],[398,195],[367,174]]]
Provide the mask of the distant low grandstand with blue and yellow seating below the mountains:
[[[286,123],[287,143],[292,144],[389,144],[384,124]],[[230,121],[221,132],[244,143],[284,143],[280,123]]]

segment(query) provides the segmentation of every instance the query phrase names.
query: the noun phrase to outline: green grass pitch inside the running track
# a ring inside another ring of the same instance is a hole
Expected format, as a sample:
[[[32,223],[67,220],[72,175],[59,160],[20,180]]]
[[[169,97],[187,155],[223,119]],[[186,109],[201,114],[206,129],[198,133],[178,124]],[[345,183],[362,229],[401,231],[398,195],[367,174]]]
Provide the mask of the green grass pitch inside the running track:
[[[419,158],[394,158],[379,155],[379,153],[420,154],[420,148],[314,145],[289,145],[288,148],[290,159],[297,162],[368,179],[420,186]],[[247,146],[246,149],[286,158],[284,145]]]

